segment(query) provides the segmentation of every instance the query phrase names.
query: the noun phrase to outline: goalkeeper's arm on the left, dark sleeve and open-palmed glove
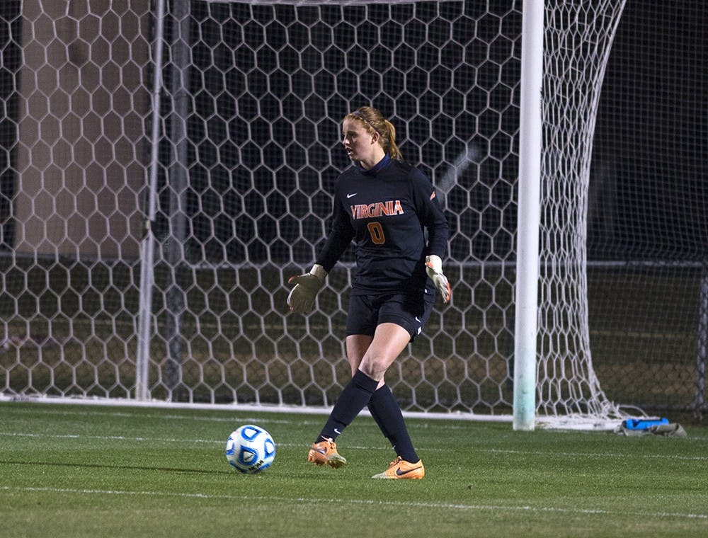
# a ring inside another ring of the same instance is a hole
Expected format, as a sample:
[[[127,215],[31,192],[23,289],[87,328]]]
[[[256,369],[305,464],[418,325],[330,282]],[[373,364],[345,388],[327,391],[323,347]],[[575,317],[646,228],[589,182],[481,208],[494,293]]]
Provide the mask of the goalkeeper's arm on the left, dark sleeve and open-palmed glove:
[[[327,274],[337,263],[354,236],[354,229],[347,214],[338,202],[334,202],[332,229],[327,237],[316,262],[309,273],[290,277],[287,281],[293,288],[287,296],[290,311],[296,314],[309,314],[314,308],[314,300],[319,290],[324,287]]]

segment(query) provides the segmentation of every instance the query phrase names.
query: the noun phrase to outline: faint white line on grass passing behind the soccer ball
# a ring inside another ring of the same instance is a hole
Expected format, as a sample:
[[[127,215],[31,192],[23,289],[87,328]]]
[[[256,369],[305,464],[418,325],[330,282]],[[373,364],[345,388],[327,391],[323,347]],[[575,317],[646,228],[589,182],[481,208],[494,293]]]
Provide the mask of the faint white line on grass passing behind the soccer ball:
[[[47,433],[28,433],[28,432],[3,432],[0,431],[0,437],[30,437],[35,439],[76,439],[76,440],[98,440],[98,441],[130,441],[130,442],[164,442],[164,443],[176,443],[183,442],[186,444],[208,444],[208,445],[225,445],[226,441],[215,440],[215,439],[176,439],[169,437],[129,437],[126,435],[83,435],[83,434],[47,434]],[[307,445],[293,444],[279,442],[279,447],[297,448],[297,447],[307,447]],[[367,447],[360,445],[347,445],[347,450],[390,450],[389,447],[376,446]],[[440,447],[421,447],[423,452],[444,452],[444,448]],[[584,457],[584,458],[627,458],[627,454],[622,454],[618,452],[552,452],[552,451],[540,451],[540,450],[505,450],[498,448],[484,448],[484,447],[474,447],[472,450],[477,452],[488,452],[491,454],[519,454],[519,455],[537,455],[537,456],[558,456],[558,457]],[[677,461],[687,461],[687,462],[708,462],[708,456],[680,456],[676,454],[637,454],[636,457],[641,459],[666,459],[677,460]]]

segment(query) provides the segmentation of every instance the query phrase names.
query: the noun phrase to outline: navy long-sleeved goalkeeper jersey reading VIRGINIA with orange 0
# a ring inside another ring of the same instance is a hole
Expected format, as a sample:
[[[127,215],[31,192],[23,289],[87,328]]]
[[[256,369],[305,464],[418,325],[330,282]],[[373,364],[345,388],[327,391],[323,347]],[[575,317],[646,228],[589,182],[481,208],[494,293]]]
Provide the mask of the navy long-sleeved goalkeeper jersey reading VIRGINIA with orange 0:
[[[371,170],[350,166],[336,181],[333,206],[316,263],[329,272],[354,240],[353,294],[433,293],[426,256],[445,257],[448,228],[435,189],[418,168],[389,156]]]

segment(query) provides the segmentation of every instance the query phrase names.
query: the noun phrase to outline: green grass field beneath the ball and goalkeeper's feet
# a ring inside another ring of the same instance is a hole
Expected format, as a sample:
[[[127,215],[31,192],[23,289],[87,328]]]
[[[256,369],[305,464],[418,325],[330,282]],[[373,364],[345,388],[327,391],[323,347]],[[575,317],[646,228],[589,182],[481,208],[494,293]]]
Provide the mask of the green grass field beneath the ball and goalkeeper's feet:
[[[244,423],[273,467],[224,458]],[[409,419],[422,481],[370,476],[393,459],[368,416],[339,438],[342,469],[308,464],[324,416],[0,403],[3,537],[707,536],[708,430],[689,437]]]

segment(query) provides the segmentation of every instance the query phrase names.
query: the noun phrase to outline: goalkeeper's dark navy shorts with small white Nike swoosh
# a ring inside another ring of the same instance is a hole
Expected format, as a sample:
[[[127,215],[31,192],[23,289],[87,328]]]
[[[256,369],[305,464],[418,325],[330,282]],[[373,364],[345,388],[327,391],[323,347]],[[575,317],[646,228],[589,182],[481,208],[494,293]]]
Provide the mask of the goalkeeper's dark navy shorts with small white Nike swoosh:
[[[411,342],[423,331],[433,311],[435,295],[428,293],[384,293],[354,295],[349,298],[347,336],[367,334],[374,336],[377,326],[392,323],[406,329]]]

